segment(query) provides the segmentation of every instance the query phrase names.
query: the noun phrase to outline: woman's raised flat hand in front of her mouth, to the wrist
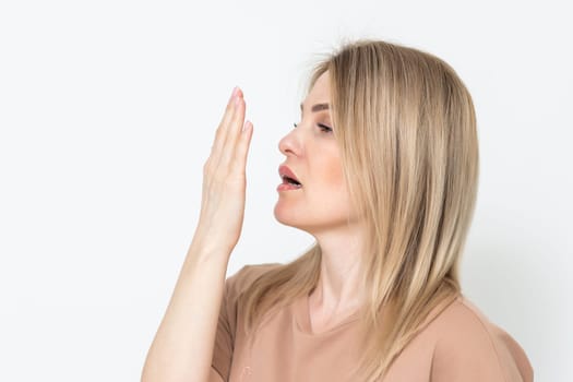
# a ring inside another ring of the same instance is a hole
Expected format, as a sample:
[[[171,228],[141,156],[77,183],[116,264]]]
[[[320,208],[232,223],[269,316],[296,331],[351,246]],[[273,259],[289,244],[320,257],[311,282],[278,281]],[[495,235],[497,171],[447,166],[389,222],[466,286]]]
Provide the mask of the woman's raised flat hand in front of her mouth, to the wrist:
[[[236,87],[203,166],[201,214],[193,238],[203,248],[229,255],[239,241],[244,216],[247,153],[252,136],[252,123],[243,123],[244,109],[242,91]]]

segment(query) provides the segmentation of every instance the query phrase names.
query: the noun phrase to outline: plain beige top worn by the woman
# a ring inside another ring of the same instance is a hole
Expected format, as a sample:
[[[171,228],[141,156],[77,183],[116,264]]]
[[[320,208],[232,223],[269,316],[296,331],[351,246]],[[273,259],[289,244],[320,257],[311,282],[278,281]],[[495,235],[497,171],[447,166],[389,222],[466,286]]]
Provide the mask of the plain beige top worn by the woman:
[[[249,351],[237,298],[261,273],[278,263],[246,265],[226,280],[213,368],[230,382],[343,382],[356,365],[358,317],[313,334],[308,297],[267,318]],[[392,363],[383,382],[533,381],[521,346],[466,298],[458,297],[431,320]]]

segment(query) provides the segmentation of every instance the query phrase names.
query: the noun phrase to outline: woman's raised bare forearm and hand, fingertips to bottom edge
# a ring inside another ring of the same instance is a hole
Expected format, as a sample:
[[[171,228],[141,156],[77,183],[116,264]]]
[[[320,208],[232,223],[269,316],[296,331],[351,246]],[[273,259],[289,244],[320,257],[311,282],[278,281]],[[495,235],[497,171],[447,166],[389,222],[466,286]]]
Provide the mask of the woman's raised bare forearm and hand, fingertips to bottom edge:
[[[142,382],[223,382],[212,368],[212,355],[225,274],[244,215],[244,171],[253,132],[244,111],[242,92],[236,88],[203,165],[199,224],[147,353]]]

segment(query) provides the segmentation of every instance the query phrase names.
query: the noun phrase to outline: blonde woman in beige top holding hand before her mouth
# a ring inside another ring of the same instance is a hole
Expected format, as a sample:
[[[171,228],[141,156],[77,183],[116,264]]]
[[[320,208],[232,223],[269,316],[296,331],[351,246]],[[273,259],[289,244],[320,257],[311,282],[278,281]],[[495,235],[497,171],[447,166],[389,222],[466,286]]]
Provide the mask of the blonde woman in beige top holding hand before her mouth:
[[[478,141],[454,70],[362,39],[320,62],[309,88],[300,123],[279,142],[274,213],[315,244],[225,279],[252,136],[236,89],[142,380],[533,381],[520,345],[461,293]]]

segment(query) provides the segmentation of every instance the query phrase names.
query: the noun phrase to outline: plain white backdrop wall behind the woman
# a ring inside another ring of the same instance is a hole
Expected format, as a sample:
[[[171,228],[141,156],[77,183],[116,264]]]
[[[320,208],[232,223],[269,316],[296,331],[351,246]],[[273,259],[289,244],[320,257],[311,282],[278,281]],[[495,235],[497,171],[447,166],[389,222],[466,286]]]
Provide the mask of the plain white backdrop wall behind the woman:
[[[382,38],[471,93],[480,183],[465,294],[573,381],[573,55],[565,1],[0,3],[0,380],[136,381],[239,85],[254,126],[227,275],[313,238],[273,216],[317,55]]]

